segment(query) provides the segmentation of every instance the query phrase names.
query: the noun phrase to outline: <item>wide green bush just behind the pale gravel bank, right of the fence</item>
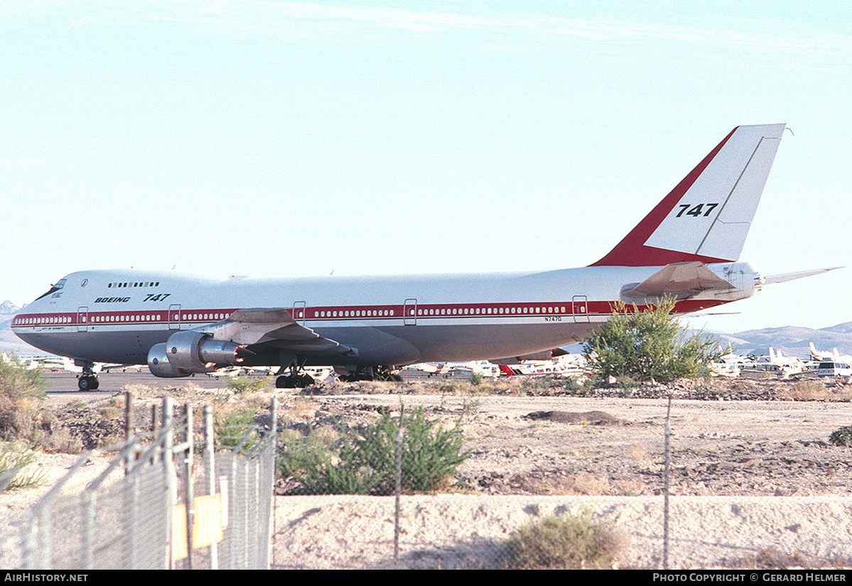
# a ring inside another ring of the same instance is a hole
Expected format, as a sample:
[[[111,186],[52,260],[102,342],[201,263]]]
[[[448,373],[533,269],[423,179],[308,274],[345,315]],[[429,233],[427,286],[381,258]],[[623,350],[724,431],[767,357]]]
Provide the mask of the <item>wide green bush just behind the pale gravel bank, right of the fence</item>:
[[[401,485],[406,492],[429,492],[452,476],[469,457],[462,452],[458,424],[444,430],[420,407],[402,421]],[[399,418],[388,412],[360,429],[337,425],[333,436],[316,432],[285,441],[279,469],[312,494],[388,494],[394,490]]]

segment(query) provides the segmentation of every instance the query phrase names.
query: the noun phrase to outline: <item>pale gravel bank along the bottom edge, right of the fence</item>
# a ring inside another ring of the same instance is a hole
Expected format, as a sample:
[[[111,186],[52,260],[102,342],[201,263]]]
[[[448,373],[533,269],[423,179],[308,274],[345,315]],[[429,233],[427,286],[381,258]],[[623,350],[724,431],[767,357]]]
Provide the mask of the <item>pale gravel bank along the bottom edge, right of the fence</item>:
[[[668,567],[852,567],[843,497],[672,497]],[[591,513],[622,543],[617,567],[664,567],[661,497],[279,497],[273,567],[499,568],[502,543],[544,515]]]

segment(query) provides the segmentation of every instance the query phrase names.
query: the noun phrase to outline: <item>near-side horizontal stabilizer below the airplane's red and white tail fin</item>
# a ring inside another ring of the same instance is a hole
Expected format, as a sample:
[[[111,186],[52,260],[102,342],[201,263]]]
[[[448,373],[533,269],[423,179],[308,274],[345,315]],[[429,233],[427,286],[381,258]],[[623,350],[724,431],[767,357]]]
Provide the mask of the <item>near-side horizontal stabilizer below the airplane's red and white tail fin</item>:
[[[698,260],[672,263],[649,276],[641,283],[630,283],[621,289],[623,299],[658,299],[668,296],[687,299],[708,289],[734,289],[734,285],[715,275]]]

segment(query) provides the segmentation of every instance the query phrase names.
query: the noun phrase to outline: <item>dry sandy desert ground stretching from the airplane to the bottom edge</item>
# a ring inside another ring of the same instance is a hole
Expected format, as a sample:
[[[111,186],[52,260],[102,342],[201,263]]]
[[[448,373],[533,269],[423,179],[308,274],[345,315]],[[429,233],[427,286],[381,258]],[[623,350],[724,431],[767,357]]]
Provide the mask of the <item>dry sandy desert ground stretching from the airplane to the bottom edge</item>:
[[[52,383],[46,404],[87,448],[120,439],[124,423],[105,417],[114,413],[103,405],[115,405],[126,390],[139,404],[166,393],[178,404],[249,399],[213,379],[176,386],[114,376],[90,397],[72,392],[73,379]],[[393,497],[301,496],[280,480],[273,566],[493,567],[500,541],[522,522],[585,510],[624,532],[619,567],[661,567],[667,414],[669,492],[680,511],[672,520],[680,537],[670,567],[849,566],[852,447],[834,446],[829,436],[852,423],[852,386],[824,382],[683,380],[564,390],[456,378],[264,390],[252,400],[277,395],[284,429],[362,424],[382,409],[423,407],[446,427],[460,425],[470,450],[446,490],[404,496],[409,528],[395,559],[387,531]],[[136,412],[135,424],[147,425],[150,410]],[[73,459],[43,453],[39,465],[55,478]],[[100,462],[93,459],[93,474]],[[45,490],[3,495],[0,508],[11,516]]]

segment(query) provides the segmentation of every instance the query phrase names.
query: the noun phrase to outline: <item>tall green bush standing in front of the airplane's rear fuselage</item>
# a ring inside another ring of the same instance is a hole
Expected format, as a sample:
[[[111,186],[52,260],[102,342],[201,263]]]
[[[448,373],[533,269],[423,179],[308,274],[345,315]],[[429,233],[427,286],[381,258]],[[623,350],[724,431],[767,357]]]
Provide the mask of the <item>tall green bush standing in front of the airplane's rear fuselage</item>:
[[[583,356],[599,378],[669,381],[705,373],[719,350],[719,339],[687,337],[671,315],[675,302],[664,299],[648,310],[616,302],[613,314],[583,345]]]

